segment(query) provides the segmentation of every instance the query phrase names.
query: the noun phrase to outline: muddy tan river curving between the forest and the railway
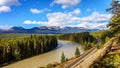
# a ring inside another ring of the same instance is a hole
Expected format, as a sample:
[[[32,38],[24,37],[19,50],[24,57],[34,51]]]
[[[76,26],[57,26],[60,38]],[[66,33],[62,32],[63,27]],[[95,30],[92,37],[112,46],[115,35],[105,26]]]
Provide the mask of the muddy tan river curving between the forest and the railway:
[[[15,62],[3,68],[38,68],[49,63],[60,62],[62,52],[67,58],[74,57],[76,47],[79,48],[81,54],[84,52],[82,46],[74,42],[59,40],[58,44],[58,48],[52,51]]]

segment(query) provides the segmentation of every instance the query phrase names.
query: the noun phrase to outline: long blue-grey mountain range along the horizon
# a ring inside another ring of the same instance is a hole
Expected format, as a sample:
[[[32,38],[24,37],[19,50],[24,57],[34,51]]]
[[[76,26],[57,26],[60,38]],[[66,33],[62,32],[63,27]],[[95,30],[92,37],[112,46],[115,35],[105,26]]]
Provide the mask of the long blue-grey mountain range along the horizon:
[[[60,33],[77,33],[77,32],[95,32],[99,29],[86,29],[83,27],[63,27],[58,26],[41,26],[25,29],[23,27],[12,27],[8,30],[0,29],[0,33],[38,33],[38,34],[60,34]]]

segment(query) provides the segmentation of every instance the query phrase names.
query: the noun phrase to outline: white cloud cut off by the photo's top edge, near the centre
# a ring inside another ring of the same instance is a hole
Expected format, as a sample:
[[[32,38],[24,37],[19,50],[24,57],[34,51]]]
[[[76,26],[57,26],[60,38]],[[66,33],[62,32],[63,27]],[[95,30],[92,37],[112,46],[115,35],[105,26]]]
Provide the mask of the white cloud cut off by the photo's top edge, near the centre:
[[[75,6],[80,3],[80,0],[54,0],[51,5],[54,4],[61,4],[63,9],[66,9],[68,7]]]

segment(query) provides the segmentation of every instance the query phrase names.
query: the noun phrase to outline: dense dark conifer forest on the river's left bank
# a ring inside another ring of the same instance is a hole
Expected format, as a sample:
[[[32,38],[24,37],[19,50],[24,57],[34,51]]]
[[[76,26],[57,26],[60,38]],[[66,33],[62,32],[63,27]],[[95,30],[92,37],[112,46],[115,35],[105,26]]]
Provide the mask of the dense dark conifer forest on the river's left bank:
[[[31,35],[25,38],[0,39],[0,65],[22,60],[57,47],[54,36]]]

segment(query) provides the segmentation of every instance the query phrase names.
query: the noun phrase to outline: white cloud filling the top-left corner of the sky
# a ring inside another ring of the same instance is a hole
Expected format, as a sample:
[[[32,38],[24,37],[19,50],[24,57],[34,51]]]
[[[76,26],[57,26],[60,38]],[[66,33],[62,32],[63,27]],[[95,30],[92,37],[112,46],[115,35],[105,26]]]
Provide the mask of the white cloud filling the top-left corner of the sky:
[[[0,0],[0,13],[10,12],[12,5],[20,5],[18,0]]]

